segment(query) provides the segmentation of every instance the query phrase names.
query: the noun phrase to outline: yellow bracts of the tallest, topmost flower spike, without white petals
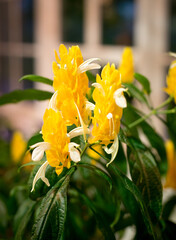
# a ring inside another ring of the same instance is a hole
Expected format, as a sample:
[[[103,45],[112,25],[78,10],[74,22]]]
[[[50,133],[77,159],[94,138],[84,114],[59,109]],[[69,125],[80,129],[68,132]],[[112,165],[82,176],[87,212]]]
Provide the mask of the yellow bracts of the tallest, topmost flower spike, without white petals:
[[[85,123],[88,123],[90,112],[86,111],[86,93],[89,90],[88,77],[85,72],[79,71],[83,57],[78,46],[72,46],[67,52],[62,44],[59,47],[60,59],[53,63],[54,90],[57,91],[55,107],[62,112],[67,125],[80,125],[79,114]],[[76,106],[77,108],[76,108]]]

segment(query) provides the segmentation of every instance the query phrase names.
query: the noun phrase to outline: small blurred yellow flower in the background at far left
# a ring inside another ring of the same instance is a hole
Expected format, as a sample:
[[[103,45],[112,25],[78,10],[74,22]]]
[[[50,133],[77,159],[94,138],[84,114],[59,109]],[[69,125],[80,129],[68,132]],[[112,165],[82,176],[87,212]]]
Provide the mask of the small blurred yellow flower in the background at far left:
[[[22,160],[22,157],[26,151],[26,141],[23,138],[23,135],[16,131],[13,133],[12,140],[11,140],[11,156],[12,160],[15,163],[18,163],[20,160]]]

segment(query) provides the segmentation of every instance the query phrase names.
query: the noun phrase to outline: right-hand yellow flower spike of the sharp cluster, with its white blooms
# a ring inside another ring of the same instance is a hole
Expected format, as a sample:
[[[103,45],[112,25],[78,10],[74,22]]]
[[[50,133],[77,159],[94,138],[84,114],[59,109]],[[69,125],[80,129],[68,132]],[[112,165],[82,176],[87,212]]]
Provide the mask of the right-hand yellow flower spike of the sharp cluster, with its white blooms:
[[[122,109],[126,107],[126,99],[123,96],[124,88],[121,87],[120,73],[115,65],[108,63],[102,70],[101,77],[97,74],[93,99],[95,101],[94,116],[92,118],[93,129],[90,142],[101,141],[104,150],[112,154],[111,161],[118,150],[118,132]],[[112,143],[110,149],[107,145]]]

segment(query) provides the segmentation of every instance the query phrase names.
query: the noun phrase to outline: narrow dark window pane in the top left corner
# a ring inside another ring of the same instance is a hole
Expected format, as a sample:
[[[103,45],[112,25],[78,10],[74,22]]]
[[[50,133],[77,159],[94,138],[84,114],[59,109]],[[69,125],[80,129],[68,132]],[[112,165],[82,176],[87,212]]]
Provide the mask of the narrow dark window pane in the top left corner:
[[[8,2],[0,2],[0,41],[8,41]]]

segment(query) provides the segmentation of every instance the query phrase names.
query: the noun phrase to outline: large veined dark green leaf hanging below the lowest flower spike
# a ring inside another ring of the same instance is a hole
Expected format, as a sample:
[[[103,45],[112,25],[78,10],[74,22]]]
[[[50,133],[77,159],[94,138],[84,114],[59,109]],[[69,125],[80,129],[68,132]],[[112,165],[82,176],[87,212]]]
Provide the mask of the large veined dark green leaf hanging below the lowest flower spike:
[[[33,226],[32,240],[62,239],[67,212],[67,188],[74,171],[75,168],[71,168],[43,198]]]

